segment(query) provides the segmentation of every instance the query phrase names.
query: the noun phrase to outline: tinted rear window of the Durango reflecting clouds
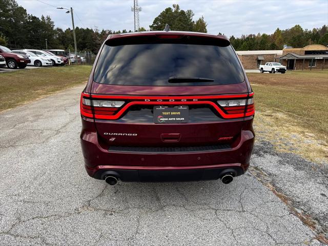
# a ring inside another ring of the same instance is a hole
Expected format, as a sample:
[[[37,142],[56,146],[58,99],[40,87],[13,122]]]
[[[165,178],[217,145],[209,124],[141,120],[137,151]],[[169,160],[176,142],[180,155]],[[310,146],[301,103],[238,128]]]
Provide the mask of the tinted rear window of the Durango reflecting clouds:
[[[209,78],[175,80],[177,78]],[[94,81],[109,85],[203,86],[244,81],[238,58],[231,46],[198,44],[105,45],[101,50]]]

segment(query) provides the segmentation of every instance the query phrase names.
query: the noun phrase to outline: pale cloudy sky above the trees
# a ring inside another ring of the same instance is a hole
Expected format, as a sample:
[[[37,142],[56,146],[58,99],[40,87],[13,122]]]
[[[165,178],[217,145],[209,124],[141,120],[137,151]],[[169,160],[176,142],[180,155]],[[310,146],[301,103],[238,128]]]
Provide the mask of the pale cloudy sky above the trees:
[[[71,16],[56,7],[73,8],[75,26],[109,30],[133,30],[133,0],[16,0],[29,14],[50,15],[55,26],[72,28]],[[42,3],[43,2],[43,3]],[[140,27],[149,29],[165,8],[178,4],[191,9],[194,20],[203,16],[208,33],[230,37],[242,34],[273,33],[301,25],[313,29],[328,24],[328,0],[317,1],[233,1],[233,0],[139,0]]]

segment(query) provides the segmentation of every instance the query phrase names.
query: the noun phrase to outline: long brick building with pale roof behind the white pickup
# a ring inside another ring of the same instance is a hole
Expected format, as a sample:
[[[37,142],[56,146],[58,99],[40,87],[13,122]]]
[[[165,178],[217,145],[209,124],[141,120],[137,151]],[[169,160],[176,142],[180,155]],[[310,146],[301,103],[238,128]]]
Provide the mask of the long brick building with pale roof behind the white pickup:
[[[247,50],[236,51],[244,69],[258,69],[276,57],[282,56],[282,50]]]

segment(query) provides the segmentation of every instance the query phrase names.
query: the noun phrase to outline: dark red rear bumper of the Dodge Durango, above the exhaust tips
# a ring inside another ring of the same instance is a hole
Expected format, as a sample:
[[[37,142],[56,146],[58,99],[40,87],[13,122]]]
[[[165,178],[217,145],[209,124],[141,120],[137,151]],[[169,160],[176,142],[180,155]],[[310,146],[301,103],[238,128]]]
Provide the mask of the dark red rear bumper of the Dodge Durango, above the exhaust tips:
[[[207,180],[218,179],[227,170],[238,176],[247,171],[254,146],[254,132],[248,129],[240,132],[229,149],[180,153],[111,152],[99,144],[93,122],[83,121],[80,141],[85,168],[97,179],[115,175],[123,181]],[[249,121],[247,125],[251,126],[252,120]]]

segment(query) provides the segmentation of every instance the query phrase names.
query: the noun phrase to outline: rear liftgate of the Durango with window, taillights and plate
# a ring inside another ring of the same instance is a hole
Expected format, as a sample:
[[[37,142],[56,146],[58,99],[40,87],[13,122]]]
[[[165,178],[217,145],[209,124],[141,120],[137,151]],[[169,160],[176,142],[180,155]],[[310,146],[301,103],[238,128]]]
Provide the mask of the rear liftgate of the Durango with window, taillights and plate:
[[[216,36],[108,39],[90,92],[81,109],[110,151],[230,148],[253,111],[238,58]]]

